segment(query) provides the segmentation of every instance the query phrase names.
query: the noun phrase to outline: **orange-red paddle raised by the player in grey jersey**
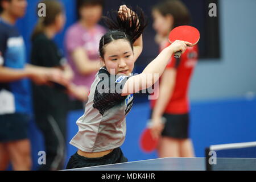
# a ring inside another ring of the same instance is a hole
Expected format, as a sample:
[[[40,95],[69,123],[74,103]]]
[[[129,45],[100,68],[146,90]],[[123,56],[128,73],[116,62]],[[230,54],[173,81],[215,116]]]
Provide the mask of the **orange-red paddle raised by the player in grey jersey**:
[[[192,45],[188,47],[195,46],[200,39],[200,32],[191,26],[179,26],[172,29],[169,34],[169,42],[173,43],[175,40],[183,40],[185,42],[189,42]],[[181,51],[175,52],[174,57],[179,58],[181,55]]]

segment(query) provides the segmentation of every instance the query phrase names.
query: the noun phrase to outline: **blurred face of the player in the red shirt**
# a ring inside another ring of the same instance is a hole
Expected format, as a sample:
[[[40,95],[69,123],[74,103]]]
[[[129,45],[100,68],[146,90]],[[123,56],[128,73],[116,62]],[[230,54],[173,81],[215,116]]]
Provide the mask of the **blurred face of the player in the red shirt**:
[[[158,10],[152,10],[153,28],[157,34],[167,36],[172,27],[170,15],[163,16]]]

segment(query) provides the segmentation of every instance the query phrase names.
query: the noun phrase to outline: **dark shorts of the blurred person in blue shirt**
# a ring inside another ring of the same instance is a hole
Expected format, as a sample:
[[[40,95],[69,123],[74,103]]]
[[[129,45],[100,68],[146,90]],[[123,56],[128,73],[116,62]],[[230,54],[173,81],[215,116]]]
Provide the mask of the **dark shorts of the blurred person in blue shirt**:
[[[0,115],[0,142],[13,142],[28,138],[29,116],[14,113]]]

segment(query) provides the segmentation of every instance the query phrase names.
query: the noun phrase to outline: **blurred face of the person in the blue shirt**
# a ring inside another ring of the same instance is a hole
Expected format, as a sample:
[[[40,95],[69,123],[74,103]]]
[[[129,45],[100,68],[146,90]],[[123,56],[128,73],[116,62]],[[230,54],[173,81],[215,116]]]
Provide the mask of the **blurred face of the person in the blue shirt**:
[[[6,10],[16,18],[22,18],[26,14],[27,1],[26,0],[11,0],[6,2]]]

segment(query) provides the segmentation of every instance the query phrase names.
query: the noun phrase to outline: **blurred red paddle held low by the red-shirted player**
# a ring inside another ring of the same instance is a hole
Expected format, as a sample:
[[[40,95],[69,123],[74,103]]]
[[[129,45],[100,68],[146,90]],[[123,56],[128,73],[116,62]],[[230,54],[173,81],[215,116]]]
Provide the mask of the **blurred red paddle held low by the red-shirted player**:
[[[163,124],[166,122],[165,118],[162,118]],[[152,126],[151,119],[147,122],[147,127],[142,131],[141,137],[139,139],[139,144],[144,152],[154,151],[158,146],[158,139],[152,136],[150,127]]]

